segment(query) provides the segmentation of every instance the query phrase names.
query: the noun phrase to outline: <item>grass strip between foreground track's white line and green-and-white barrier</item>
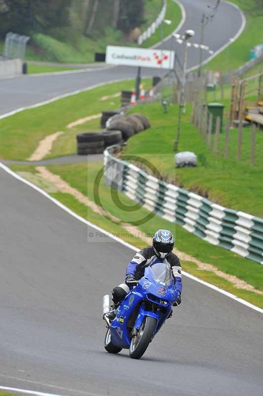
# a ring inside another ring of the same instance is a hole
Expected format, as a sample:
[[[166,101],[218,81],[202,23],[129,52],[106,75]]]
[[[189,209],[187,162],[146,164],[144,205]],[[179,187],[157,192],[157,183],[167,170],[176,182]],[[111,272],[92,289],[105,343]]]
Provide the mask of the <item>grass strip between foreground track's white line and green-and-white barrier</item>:
[[[87,164],[68,164],[52,165],[47,168],[52,173],[60,175],[63,180],[86,195],[89,200],[95,201],[93,186],[94,184],[96,185],[95,179],[98,172],[101,170],[101,167],[102,163],[100,162],[89,162],[88,166]],[[11,168],[15,171],[25,171],[24,166],[20,167],[16,165],[11,166]],[[136,219],[141,219],[149,214],[148,210],[138,205],[136,205],[137,210],[135,212],[130,212],[129,210],[127,211],[117,207],[112,201],[112,195],[116,198],[116,191],[111,191],[108,186],[104,185],[103,181],[99,186],[98,194],[103,208],[112,216],[115,216],[124,222],[129,223]],[[61,193],[54,193],[51,195],[60,200],[66,206],[70,207],[79,215],[84,218],[88,218],[88,220],[93,224],[96,224],[109,232],[117,233],[117,235],[118,233],[126,234],[126,236],[123,236],[123,239],[126,242],[129,242],[138,248],[145,246],[145,242],[140,239],[140,235],[127,235],[129,233],[121,225],[113,223],[109,218],[104,217],[101,214],[96,214],[90,209],[87,210],[87,207],[77,201],[74,197]],[[119,194],[119,197],[121,202],[127,207],[134,206],[134,202],[125,195]],[[178,247],[179,250],[196,257],[202,262],[213,264],[226,274],[235,275],[245,282],[253,285],[256,289],[263,291],[263,271],[260,264],[246,260],[239,255],[220,247],[215,247],[206,241],[189,234],[182,227],[170,223],[156,215],[138,226],[138,228],[142,233],[149,236],[154,234],[158,228],[171,229],[175,233],[176,247]],[[131,229],[131,233],[132,232],[133,230]],[[129,257],[127,258],[127,261],[129,261]],[[192,262],[189,263],[183,261],[182,264],[183,269],[187,272],[198,276],[209,283],[215,284],[238,297],[244,298],[253,304],[263,307],[263,296],[237,289],[230,282],[220,278],[213,272],[199,270]]]

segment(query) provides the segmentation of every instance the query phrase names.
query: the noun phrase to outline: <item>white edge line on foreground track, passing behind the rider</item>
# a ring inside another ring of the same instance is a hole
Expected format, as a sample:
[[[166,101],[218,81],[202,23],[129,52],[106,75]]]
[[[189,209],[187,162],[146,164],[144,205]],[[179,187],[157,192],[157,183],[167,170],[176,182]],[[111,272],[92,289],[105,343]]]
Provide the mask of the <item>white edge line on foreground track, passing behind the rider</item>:
[[[59,206],[61,209],[65,210],[67,213],[69,213],[71,216],[75,217],[76,219],[80,220],[81,222],[83,222],[84,224],[94,228],[95,230],[100,231],[101,233],[104,233],[106,235],[109,236],[109,238],[112,238],[114,241],[130,248],[133,251],[138,251],[138,248],[123,241],[122,239],[116,237],[115,235],[109,233],[108,231],[104,230],[101,227],[98,227],[96,224],[90,223],[88,220],[84,219],[83,217],[79,216],[77,213],[73,212],[71,209],[69,209],[67,206],[63,205],[63,203],[59,202],[57,199],[51,197],[49,194],[47,194],[44,190],[42,190],[41,188],[35,186],[33,183],[29,182],[28,180],[24,179],[23,177],[19,176],[17,173],[13,172],[11,169],[9,169],[7,166],[3,165],[0,162],[0,168],[2,168],[5,172],[9,173],[11,176],[13,176],[15,179],[23,182],[24,184],[27,184],[28,186],[32,187],[34,190],[38,191],[40,194],[42,194],[44,197],[50,199],[53,203],[55,203],[57,206]],[[205,282],[202,279],[199,279],[191,274],[189,274],[188,272],[182,271],[183,275],[186,276],[187,278],[190,278],[198,283],[201,283],[202,285],[205,285],[207,287],[209,287],[210,289],[216,290],[217,292],[223,294],[224,296],[227,296],[229,298],[234,299],[235,301],[240,302],[243,305],[246,305],[252,309],[254,309],[255,311],[258,311],[260,313],[263,313],[263,309],[251,304],[250,302],[239,298],[231,293],[226,292],[223,289],[220,289],[219,287],[212,285],[211,283]]]

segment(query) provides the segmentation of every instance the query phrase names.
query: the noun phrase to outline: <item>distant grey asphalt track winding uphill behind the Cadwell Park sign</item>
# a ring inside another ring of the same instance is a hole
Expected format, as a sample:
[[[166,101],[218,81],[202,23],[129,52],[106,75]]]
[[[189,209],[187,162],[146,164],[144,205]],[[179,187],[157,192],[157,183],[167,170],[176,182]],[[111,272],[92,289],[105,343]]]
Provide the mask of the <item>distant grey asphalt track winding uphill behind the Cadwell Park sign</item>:
[[[186,12],[186,19],[179,33],[186,29],[196,31],[193,42],[200,42],[200,25],[202,13],[208,13],[208,4],[215,4],[215,0],[181,0]],[[234,37],[242,26],[242,14],[237,8],[227,2],[221,1],[218,12],[213,20],[205,28],[205,44],[212,50],[217,51]],[[182,58],[182,46],[170,40],[158,48],[174,48],[178,57]],[[204,59],[209,54],[204,51]],[[189,49],[188,68],[195,66],[199,61],[198,49]],[[107,67],[107,66],[106,66]],[[0,81],[0,114],[7,113],[20,107],[32,105],[47,99],[54,98],[78,89],[83,89],[94,84],[135,77],[136,70],[133,67],[112,67],[90,69],[88,72],[56,74],[46,76],[22,76],[9,80]],[[142,76],[162,74],[157,69],[143,69]]]

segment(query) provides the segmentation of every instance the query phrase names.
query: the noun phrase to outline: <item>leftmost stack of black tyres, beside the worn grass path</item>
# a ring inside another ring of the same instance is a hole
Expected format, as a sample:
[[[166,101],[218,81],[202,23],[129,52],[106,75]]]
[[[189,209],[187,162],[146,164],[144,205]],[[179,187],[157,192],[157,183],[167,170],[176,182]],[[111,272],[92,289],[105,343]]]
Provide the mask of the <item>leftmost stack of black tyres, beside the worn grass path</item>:
[[[104,136],[99,132],[77,135],[78,154],[101,154],[104,151]]]

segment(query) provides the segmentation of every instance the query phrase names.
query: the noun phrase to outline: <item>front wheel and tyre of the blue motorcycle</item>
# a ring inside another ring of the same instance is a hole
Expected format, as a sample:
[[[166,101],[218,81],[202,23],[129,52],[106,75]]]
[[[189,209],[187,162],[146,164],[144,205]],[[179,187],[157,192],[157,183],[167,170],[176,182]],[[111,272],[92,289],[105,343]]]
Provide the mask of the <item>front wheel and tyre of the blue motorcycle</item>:
[[[146,316],[136,336],[132,337],[129,353],[132,359],[139,359],[152,341],[156,319]]]

